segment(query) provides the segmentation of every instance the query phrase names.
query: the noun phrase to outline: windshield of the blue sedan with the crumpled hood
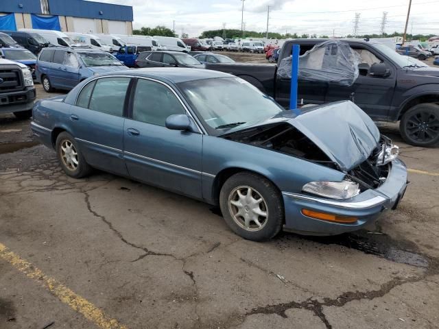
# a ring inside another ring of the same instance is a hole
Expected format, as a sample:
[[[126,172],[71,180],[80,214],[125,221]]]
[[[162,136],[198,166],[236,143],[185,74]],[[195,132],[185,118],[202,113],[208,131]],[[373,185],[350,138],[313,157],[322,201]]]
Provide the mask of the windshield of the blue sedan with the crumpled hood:
[[[239,77],[194,80],[178,84],[209,134],[244,128],[283,111],[272,98]]]

